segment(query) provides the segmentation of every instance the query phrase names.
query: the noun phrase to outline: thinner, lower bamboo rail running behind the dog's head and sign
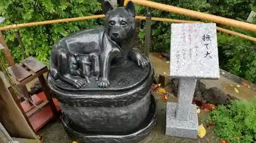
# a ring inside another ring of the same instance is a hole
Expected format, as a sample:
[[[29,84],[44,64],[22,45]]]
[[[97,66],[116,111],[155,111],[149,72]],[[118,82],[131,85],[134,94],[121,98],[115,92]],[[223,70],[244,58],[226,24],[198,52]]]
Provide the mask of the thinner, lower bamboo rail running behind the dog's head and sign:
[[[45,24],[52,24],[52,23],[71,22],[71,21],[76,21],[76,20],[87,20],[87,19],[104,18],[104,17],[105,17],[105,15],[94,15],[94,16],[85,16],[85,17],[76,17],[76,18],[67,18],[67,19],[57,19],[57,20],[50,20],[50,21],[40,21],[40,22],[14,24],[14,25],[8,25],[8,26],[0,27],[0,31],[10,30],[12,28],[17,28],[17,27],[45,25]],[[136,16],[135,18],[136,19],[142,19],[142,20],[146,19],[145,16]],[[162,22],[170,22],[170,23],[203,23],[203,22],[200,22],[200,21],[177,20],[177,19],[158,18],[158,17],[152,17],[152,20],[162,21]],[[254,37],[250,37],[250,36],[247,36],[247,35],[244,35],[244,34],[229,31],[229,30],[226,30],[226,29],[220,28],[220,27],[217,27],[217,30],[220,31],[220,32],[223,32],[223,33],[231,34],[231,35],[234,35],[234,36],[238,36],[238,37],[256,42],[256,38],[254,38]]]

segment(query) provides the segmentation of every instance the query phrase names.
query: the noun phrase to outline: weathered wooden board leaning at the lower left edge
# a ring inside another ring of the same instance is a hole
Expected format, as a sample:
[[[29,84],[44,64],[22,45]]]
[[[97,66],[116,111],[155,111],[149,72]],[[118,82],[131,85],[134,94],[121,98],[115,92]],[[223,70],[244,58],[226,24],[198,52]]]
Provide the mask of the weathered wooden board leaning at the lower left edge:
[[[10,84],[4,73],[0,72],[0,122],[11,136],[38,139],[20,110],[19,104],[16,104],[17,98],[13,98],[9,88]]]

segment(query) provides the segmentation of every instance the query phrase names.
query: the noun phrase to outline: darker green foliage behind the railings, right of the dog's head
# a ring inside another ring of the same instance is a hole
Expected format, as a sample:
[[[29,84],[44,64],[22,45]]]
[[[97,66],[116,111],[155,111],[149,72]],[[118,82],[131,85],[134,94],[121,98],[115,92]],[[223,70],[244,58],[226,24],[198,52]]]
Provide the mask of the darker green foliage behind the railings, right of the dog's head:
[[[256,1],[250,0],[154,0],[154,2],[177,6],[189,10],[214,14],[240,21],[247,20],[251,10],[255,10]],[[137,13],[145,15],[145,8],[136,6]],[[152,10],[152,17],[195,20],[209,22],[201,19],[191,18],[165,11]],[[253,22],[256,24],[256,20]],[[170,49],[170,25],[171,23],[152,21],[152,43],[151,51],[169,52]],[[229,30],[256,37],[256,33],[227,27],[220,24],[217,26]],[[139,33],[139,38],[144,48],[145,28]],[[231,36],[225,33],[218,33],[218,48],[220,67],[233,74],[243,77],[256,83],[256,43],[243,38]]]

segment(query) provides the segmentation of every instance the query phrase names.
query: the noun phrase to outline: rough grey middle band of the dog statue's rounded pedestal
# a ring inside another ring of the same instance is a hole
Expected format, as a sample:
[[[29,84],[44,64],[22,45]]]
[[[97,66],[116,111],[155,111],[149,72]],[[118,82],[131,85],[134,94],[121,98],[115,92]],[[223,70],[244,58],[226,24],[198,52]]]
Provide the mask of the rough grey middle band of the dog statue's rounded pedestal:
[[[146,118],[151,92],[140,100],[120,107],[73,107],[62,105],[62,115],[87,131],[130,131]]]

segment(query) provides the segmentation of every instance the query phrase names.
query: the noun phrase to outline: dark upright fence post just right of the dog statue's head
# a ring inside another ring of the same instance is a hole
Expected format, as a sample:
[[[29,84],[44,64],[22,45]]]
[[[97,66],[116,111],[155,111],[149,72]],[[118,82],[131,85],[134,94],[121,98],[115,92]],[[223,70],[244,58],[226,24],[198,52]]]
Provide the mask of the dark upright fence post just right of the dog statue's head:
[[[151,43],[151,8],[146,9],[146,24],[145,24],[145,49],[144,54],[148,57],[150,55]]]

